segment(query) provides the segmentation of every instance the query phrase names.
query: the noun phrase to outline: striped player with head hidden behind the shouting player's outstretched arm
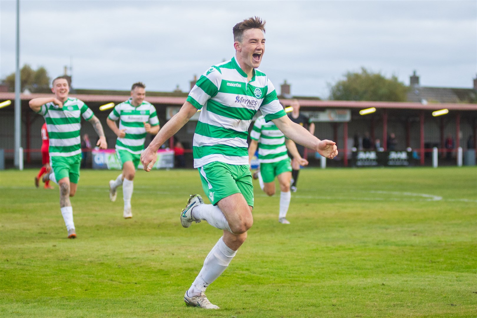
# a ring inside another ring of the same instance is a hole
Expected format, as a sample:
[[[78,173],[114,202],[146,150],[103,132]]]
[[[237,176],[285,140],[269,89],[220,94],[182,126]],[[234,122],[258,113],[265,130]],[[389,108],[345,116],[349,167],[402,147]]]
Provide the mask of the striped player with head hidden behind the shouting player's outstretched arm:
[[[290,181],[291,181],[291,160],[290,154],[301,165],[307,165],[308,161],[301,158],[297,147],[293,141],[286,138],[273,122],[266,122],[263,116],[255,121],[250,133],[249,162],[255,151],[259,150],[260,169],[258,179],[260,188],[267,195],[275,194],[275,177],[280,184],[280,210],[278,221],[282,224],[290,224],[287,220],[287,212],[290,206]]]

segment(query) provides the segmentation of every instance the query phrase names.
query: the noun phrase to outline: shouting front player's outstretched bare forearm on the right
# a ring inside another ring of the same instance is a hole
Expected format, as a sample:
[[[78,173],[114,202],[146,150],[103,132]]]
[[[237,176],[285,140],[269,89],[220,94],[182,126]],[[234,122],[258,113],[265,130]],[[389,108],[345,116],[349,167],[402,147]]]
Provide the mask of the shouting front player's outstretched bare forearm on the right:
[[[337,154],[336,143],[331,140],[320,140],[297,123],[293,123],[288,116],[272,119],[272,122],[288,138],[297,144],[317,151],[324,157],[333,159]]]

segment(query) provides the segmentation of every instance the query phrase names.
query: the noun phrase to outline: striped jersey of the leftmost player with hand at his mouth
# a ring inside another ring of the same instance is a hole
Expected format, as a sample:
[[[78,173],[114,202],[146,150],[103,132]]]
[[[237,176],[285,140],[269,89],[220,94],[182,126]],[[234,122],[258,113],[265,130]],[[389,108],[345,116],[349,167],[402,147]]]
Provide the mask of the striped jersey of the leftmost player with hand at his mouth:
[[[81,154],[81,116],[84,120],[90,120],[94,116],[85,103],[68,97],[63,108],[58,108],[54,103],[46,103],[41,105],[38,113],[45,118],[50,137],[50,156],[70,157]]]

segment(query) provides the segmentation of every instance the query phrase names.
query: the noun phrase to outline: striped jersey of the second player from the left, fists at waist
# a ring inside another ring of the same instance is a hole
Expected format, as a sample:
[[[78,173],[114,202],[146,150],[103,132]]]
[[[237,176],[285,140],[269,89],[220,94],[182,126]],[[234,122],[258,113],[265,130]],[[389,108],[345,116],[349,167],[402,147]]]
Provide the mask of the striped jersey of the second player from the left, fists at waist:
[[[113,111],[108,118],[116,121],[119,119],[119,129],[125,129],[124,138],[116,140],[116,149],[127,150],[131,154],[141,154],[144,150],[146,139],[146,130],[144,123],[150,123],[151,126],[157,126],[156,108],[149,102],[144,101],[141,105],[135,107],[131,104],[132,98],[114,106]]]

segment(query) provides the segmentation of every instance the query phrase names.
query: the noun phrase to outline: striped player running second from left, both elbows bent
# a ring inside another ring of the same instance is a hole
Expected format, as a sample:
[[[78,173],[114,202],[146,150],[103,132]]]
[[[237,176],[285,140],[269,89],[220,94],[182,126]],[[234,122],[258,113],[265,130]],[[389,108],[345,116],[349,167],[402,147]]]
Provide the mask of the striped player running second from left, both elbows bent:
[[[133,179],[136,174],[147,133],[159,132],[159,119],[156,108],[146,102],[145,85],[134,83],[131,87],[131,97],[117,104],[109,114],[106,123],[118,136],[116,140],[116,156],[121,162],[123,173],[116,180],[109,181],[109,199],[116,201],[116,189],[123,185],[124,218],[133,217],[131,197],[133,195]],[[119,128],[116,121],[119,120]]]

